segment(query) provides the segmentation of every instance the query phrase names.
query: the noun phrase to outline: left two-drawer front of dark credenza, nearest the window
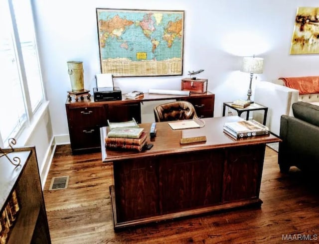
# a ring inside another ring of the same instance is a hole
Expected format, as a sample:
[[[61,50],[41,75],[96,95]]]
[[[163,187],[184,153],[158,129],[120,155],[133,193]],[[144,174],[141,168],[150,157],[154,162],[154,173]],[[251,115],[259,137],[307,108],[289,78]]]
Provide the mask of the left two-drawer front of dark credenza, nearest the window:
[[[67,109],[72,151],[100,148],[100,127],[107,125],[104,106]]]

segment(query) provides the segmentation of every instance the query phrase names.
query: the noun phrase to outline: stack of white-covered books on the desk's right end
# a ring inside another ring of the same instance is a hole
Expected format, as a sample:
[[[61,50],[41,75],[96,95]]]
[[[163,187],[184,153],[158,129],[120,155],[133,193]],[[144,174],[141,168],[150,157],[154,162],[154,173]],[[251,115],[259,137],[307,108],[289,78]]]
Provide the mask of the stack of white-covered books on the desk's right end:
[[[257,121],[227,122],[224,132],[234,138],[243,138],[256,135],[269,135],[269,128]]]

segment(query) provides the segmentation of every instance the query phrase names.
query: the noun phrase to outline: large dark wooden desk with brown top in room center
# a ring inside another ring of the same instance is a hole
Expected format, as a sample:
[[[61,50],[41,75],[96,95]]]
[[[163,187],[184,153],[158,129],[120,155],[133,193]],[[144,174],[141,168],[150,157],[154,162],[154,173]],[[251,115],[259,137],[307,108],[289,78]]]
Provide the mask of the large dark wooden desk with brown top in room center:
[[[171,130],[157,123],[154,146],[142,152],[102,150],[103,162],[113,162],[110,187],[114,229],[261,205],[259,190],[265,144],[274,135],[234,140],[223,133],[225,122],[237,116],[207,118],[202,128]],[[149,131],[151,124],[140,124]],[[101,144],[107,127],[101,128]],[[206,142],[179,144],[181,137],[206,135]]]

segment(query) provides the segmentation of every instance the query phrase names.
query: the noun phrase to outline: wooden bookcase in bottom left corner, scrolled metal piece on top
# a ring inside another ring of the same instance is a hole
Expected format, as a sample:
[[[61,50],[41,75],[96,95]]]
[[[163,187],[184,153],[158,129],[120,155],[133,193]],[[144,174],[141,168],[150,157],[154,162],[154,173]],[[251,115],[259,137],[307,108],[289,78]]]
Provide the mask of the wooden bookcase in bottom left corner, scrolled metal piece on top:
[[[5,241],[7,244],[50,244],[35,147],[16,148],[8,157],[19,157],[21,164],[14,166],[5,156],[0,158],[0,213],[11,201],[13,191],[19,205]]]

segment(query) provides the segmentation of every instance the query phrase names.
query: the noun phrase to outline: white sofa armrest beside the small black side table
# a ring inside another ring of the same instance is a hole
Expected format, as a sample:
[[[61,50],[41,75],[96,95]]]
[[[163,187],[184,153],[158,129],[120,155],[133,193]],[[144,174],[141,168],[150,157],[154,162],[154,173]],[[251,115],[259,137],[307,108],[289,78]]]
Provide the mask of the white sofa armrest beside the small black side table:
[[[299,91],[272,82],[261,81],[256,84],[254,100],[268,107],[266,126],[270,131],[279,135],[280,117],[293,115],[292,104],[298,102]],[[261,121],[261,113],[254,112],[253,119]]]

